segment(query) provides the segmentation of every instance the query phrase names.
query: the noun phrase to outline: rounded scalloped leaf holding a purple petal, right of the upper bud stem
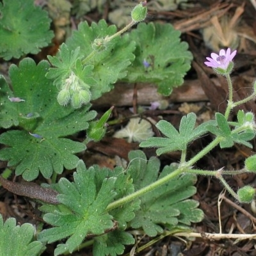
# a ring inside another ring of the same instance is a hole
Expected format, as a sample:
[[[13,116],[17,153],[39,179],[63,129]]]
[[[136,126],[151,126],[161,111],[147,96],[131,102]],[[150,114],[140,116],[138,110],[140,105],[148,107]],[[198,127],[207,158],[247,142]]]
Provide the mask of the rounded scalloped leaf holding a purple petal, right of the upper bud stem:
[[[193,57],[188,44],[180,42],[180,31],[170,24],[140,23],[129,38],[136,42],[136,58],[127,68],[125,81],[155,83],[165,96],[184,82]]]

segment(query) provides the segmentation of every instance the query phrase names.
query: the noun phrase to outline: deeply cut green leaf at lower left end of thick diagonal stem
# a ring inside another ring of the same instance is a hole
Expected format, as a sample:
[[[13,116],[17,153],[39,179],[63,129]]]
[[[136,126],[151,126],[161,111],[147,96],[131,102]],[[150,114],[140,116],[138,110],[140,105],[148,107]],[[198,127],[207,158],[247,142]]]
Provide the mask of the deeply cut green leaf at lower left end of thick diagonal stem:
[[[105,179],[100,190],[96,191],[94,177],[94,170],[86,173],[77,170],[74,183],[64,178],[60,180],[61,195],[58,195],[58,200],[73,214],[58,211],[45,214],[44,220],[55,227],[43,230],[38,236],[40,241],[48,243],[69,237],[65,244],[58,244],[54,255],[67,251],[71,253],[88,234],[103,234],[104,230],[113,227],[112,216],[105,210],[115,196],[115,179]]]

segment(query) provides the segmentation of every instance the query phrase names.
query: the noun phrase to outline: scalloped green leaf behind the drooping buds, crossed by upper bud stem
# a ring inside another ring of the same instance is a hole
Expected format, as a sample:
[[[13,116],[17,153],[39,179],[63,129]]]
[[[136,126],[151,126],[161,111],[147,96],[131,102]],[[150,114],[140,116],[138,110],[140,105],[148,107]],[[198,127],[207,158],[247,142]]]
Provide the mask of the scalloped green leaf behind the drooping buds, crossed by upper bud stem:
[[[92,53],[92,44],[95,39],[105,38],[116,33],[116,26],[108,26],[105,20],[100,20],[98,24],[92,22],[81,22],[77,31],[67,40],[67,46],[70,50],[80,47],[81,56],[88,56]],[[118,79],[126,76],[126,68],[134,60],[132,52],[135,43],[128,35],[117,36],[110,42],[106,43],[104,51],[97,52],[92,58],[86,61],[86,65],[93,65],[93,79],[97,81],[91,86],[90,92],[92,99],[98,99],[102,93],[109,92],[113,84]]]

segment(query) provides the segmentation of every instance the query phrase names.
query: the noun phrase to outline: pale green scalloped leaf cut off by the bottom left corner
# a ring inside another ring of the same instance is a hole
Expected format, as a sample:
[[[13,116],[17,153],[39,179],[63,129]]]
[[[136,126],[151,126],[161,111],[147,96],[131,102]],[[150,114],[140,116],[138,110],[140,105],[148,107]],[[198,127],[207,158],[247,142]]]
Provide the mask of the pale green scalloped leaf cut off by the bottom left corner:
[[[16,226],[14,218],[9,218],[3,223],[3,217],[0,214],[0,255],[40,255],[45,246],[39,241],[34,241],[34,232],[35,228],[29,223]]]

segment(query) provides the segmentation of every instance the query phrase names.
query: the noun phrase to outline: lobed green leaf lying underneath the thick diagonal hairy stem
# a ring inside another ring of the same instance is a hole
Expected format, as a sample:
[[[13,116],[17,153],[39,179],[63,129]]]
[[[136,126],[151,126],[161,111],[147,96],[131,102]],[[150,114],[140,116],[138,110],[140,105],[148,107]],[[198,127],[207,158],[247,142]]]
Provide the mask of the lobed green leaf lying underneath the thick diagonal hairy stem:
[[[131,163],[127,173],[134,180],[136,190],[145,188],[177,168],[175,164],[165,166],[159,175],[159,160],[151,157],[147,162],[147,157],[140,150],[130,152],[129,159]],[[161,225],[177,227],[202,221],[204,213],[197,209],[198,202],[188,199],[196,193],[195,182],[195,175],[184,174],[141,196],[141,208],[135,212],[131,227],[142,227],[148,236],[156,236],[163,232]]]

